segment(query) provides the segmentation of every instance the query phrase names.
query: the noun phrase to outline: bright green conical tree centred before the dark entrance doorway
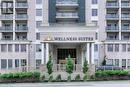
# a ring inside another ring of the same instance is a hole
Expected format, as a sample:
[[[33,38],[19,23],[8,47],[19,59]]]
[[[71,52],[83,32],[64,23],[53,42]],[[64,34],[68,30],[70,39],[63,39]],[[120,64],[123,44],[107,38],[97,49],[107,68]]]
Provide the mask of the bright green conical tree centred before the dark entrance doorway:
[[[69,74],[69,78],[71,78],[71,73],[73,73],[73,69],[74,69],[73,60],[69,55],[66,62],[66,72]]]

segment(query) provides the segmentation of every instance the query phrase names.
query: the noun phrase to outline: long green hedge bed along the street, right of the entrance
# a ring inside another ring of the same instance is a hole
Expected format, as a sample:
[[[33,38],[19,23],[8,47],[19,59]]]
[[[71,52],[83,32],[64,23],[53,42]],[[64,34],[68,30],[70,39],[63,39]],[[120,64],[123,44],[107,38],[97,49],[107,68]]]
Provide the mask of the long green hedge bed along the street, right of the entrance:
[[[96,71],[95,80],[130,80],[130,74],[125,70]]]

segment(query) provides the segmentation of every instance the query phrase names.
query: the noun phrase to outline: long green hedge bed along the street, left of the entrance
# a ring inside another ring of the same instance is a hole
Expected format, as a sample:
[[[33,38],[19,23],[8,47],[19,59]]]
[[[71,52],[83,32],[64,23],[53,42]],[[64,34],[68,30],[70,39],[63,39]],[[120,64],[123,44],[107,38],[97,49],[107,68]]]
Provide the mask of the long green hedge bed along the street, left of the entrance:
[[[7,73],[0,75],[1,83],[11,82],[37,82],[39,81],[39,72],[19,72],[19,73]]]

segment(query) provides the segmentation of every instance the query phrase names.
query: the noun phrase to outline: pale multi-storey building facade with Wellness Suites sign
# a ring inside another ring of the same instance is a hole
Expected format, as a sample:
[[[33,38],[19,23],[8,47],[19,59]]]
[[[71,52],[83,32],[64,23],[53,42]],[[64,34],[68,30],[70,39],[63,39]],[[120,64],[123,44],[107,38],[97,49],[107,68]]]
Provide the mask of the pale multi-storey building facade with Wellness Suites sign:
[[[100,66],[130,68],[129,0],[1,0],[1,72],[57,69],[70,55]]]

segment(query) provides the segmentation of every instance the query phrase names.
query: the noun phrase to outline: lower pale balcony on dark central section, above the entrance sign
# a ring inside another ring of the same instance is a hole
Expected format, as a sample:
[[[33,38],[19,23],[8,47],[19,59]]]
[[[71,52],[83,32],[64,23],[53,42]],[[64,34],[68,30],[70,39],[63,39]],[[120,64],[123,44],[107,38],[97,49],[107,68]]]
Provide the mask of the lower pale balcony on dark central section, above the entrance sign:
[[[58,19],[77,19],[78,13],[57,13],[56,18],[58,18]]]

